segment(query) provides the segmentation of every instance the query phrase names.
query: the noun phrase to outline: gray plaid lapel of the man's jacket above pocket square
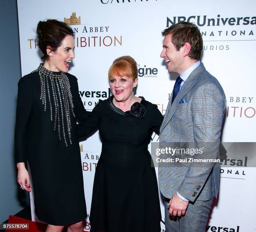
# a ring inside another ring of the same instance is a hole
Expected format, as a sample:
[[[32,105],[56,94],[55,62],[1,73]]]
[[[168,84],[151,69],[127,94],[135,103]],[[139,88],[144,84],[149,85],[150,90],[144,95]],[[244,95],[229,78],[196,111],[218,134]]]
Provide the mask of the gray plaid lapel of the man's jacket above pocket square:
[[[189,89],[191,89],[193,87],[193,85],[197,82],[197,77],[203,71],[205,71],[205,66],[201,63],[189,75],[189,77],[184,82],[182,88],[179,90],[179,93],[177,94],[177,96],[175,97],[173,102],[172,102],[172,95],[171,95],[171,98],[169,99],[169,103],[168,103],[168,106],[166,109],[166,114],[164,115],[163,123],[160,127],[160,133],[164,130],[166,125],[172,119],[172,116],[174,115],[175,111],[177,110],[180,100],[187,94],[187,92],[189,92]],[[172,102],[172,104],[171,104],[171,102]]]

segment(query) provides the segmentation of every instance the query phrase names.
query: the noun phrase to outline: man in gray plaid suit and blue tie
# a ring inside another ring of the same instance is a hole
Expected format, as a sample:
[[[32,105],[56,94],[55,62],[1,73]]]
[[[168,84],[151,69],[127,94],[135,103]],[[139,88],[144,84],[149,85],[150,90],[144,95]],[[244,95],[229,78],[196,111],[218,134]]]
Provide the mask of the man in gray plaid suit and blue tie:
[[[179,76],[160,128],[160,146],[189,143],[203,152],[186,157],[216,159],[226,100],[218,80],[200,62],[201,33],[193,23],[182,22],[166,28],[162,35],[161,58],[168,71]],[[159,167],[166,231],[204,232],[219,179],[220,168],[214,163]]]

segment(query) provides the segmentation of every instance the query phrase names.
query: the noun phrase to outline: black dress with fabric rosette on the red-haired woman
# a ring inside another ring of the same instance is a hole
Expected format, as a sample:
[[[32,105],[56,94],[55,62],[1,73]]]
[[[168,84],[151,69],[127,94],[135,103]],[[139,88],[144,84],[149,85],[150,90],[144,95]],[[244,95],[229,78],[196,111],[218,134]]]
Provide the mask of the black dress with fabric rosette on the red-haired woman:
[[[144,117],[143,117],[144,116]],[[142,98],[123,112],[113,96],[78,125],[79,136],[99,127],[102,152],[97,164],[90,212],[91,232],[159,232],[161,211],[155,168],[148,152],[163,116]]]

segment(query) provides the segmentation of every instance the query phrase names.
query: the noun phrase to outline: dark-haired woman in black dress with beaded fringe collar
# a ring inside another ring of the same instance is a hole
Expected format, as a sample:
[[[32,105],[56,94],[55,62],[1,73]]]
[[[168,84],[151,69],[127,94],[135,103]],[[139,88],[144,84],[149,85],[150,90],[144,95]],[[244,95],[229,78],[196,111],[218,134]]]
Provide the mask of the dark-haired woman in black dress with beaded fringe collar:
[[[20,188],[31,191],[25,162],[33,180],[38,219],[47,232],[83,231],[87,217],[77,119],[87,112],[79,97],[77,78],[68,74],[74,59],[74,32],[57,20],[40,21],[39,48],[44,64],[18,83],[15,156]]]

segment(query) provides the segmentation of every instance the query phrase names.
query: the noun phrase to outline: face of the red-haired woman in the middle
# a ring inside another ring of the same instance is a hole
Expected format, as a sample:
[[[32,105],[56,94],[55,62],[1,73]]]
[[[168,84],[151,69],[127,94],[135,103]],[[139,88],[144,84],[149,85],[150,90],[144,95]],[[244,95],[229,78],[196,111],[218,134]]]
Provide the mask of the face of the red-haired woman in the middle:
[[[133,81],[127,76],[110,77],[110,89],[117,102],[125,102],[133,97],[133,87],[137,85],[137,78]]]

